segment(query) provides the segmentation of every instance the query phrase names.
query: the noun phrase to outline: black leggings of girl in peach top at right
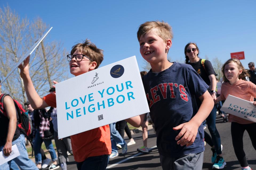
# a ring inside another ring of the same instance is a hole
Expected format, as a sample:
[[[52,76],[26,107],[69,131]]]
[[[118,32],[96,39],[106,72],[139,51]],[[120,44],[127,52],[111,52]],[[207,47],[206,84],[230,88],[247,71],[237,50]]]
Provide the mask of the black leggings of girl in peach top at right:
[[[231,122],[231,136],[232,143],[235,150],[235,155],[241,165],[241,167],[248,166],[245,152],[243,150],[243,133],[245,130],[248,132],[251,143],[253,144],[254,149],[256,150],[256,123],[251,124],[239,124],[236,122]],[[248,141],[249,142],[249,141]]]

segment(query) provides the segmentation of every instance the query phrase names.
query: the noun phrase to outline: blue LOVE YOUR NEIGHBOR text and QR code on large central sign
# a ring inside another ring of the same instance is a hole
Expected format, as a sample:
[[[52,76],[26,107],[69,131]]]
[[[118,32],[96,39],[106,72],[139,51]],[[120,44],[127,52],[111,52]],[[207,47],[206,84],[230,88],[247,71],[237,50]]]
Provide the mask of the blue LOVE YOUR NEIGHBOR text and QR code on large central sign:
[[[99,90],[98,92],[78,96],[76,99],[65,102],[66,120],[85,116],[86,114],[93,114],[105,108],[112,107],[117,104],[122,104],[135,99],[133,93],[133,86],[131,81],[116,84]],[[94,96],[102,98],[99,101],[94,100]],[[79,107],[77,107],[79,105]],[[103,119],[103,115],[99,120]]]

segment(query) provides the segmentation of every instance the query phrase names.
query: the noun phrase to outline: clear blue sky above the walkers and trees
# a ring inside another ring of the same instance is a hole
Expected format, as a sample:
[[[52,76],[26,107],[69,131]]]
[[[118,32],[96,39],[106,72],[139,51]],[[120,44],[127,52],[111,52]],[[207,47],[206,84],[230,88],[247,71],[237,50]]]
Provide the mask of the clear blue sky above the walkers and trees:
[[[172,61],[185,60],[184,47],[197,43],[200,54],[222,62],[232,52],[245,52],[245,68],[256,63],[255,1],[6,1],[22,18],[39,16],[53,29],[48,40],[63,43],[68,51],[90,39],[104,50],[101,66],[136,56],[141,71],[145,64],[139,53],[137,29],[146,21],[163,20],[173,27]],[[66,57],[63,56],[63,62]],[[67,71],[68,63],[67,63]]]

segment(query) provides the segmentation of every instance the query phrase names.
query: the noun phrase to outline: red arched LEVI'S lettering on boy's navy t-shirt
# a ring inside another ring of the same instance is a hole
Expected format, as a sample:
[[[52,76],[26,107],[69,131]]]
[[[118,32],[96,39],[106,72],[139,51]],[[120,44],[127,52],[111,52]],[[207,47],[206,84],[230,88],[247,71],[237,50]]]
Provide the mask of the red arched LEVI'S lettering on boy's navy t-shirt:
[[[161,83],[158,84],[157,86],[153,87],[150,89],[150,93],[147,93],[147,100],[149,101],[149,108],[151,108],[151,106],[158,102],[160,99],[160,95],[157,95],[157,91],[158,94],[162,95],[162,99],[167,99],[167,98],[172,98],[172,99],[177,99],[177,97],[181,97],[181,99],[183,99],[184,101],[189,101],[188,97],[187,97],[187,93],[186,93],[186,88],[181,84],[177,84],[177,83]],[[178,91],[178,92],[176,92]],[[168,92],[168,93],[167,93]],[[170,94],[167,96],[167,94]],[[176,94],[176,95],[175,95]],[[179,94],[177,96],[177,94]]]

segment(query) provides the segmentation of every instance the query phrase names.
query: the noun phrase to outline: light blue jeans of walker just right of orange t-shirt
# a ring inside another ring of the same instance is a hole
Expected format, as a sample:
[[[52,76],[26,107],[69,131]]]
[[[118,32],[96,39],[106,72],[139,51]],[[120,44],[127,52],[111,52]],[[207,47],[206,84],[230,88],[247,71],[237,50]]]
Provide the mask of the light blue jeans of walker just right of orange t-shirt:
[[[109,128],[110,128],[110,140],[111,140],[112,153],[116,154],[118,153],[117,143],[122,147],[125,146],[126,143],[121,137],[121,135],[119,134],[119,132],[115,129],[115,123],[109,124]]]

